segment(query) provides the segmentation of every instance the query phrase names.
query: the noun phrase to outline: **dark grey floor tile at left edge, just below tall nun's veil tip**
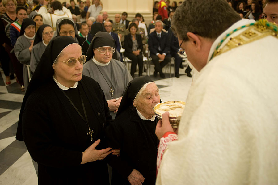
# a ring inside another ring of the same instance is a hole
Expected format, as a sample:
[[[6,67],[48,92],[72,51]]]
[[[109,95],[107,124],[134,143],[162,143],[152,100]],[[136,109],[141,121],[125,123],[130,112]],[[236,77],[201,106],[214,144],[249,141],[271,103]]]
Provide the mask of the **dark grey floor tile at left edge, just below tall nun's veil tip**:
[[[11,166],[14,164],[27,150],[7,146],[0,152],[0,165]]]

